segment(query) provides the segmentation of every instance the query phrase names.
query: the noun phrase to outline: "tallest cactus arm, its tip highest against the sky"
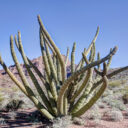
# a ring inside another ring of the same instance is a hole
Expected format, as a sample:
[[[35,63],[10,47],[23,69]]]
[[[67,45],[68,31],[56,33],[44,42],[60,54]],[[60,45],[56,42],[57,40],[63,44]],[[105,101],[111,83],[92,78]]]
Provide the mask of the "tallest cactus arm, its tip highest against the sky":
[[[50,42],[51,46],[53,47],[54,51],[56,52],[56,55],[58,56],[58,59],[60,61],[60,65],[61,65],[61,69],[62,69],[62,81],[64,82],[66,79],[66,67],[65,67],[65,63],[64,60],[60,54],[59,49],[56,47],[55,43],[53,42],[53,40],[51,39],[50,35],[48,34],[48,32],[46,31],[40,16],[38,15],[38,21],[39,21],[39,25],[41,28],[41,31],[45,34],[45,36],[47,37],[48,41]]]

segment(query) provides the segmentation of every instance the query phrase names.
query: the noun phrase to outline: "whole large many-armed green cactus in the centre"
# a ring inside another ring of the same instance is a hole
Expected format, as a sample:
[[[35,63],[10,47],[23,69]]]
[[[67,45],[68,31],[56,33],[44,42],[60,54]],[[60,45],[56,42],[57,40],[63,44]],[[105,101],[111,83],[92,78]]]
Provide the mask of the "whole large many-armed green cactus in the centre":
[[[58,47],[46,31],[40,16],[38,16],[38,22],[40,47],[45,66],[44,73],[42,73],[26,56],[22,46],[20,32],[18,32],[18,39],[17,36],[15,36],[14,39],[17,49],[24,61],[29,77],[36,88],[40,99],[37,98],[35,92],[31,89],[31,85],[29,84],[23,69],[18,62],[12,35],[10,37],[11,54],[22,82],[20,82],[9,70],[1,56],[0,64],[3,66],[10,78],[20,88],[20,90],[35,104],[35,107],[46,118],[52,120],[65,115],[79,117],[90,109],[100,98],[107,88],[108,79],[117,73],[128,69],[128,66],[109,74],[107,73],[112,56],[116,53],[117,47],[111,49],[108,55],[103,58],[100,58],[100,54],[98,53],[97,60],[95,60],[95,42],[99,33],[98,27],[91,44],[87,49],[84,49],[82,58],[77,66],[75,65],[76,43],[73,44],[70,66],[71,73],[69,76],[67,75],[66,70],[69,60],[69,48],[67,48],[66,60],[64,61]],[[103,70],[100,68],[100,65],[102,64]],[[35,71],[36,75],[39,76],[42,84],[40,84],[37,80],[33,71]],[[45,87],[46,93],[42,89],[42,86]]]

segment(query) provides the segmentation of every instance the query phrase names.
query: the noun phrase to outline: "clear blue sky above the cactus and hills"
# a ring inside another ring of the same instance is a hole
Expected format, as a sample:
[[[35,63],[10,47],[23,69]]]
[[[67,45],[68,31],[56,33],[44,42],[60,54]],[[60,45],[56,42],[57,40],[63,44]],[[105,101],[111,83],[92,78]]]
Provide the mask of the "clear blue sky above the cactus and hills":
[[[8,66],[14,64],[9,38],[18,30],[27,56],[41,55],[38,14],[62,54],[77,43],[76,63],[99,26],[96,51],[105,56],[117,45],[111,67],[128,65],[128,0],[0,0],[0,53]]]

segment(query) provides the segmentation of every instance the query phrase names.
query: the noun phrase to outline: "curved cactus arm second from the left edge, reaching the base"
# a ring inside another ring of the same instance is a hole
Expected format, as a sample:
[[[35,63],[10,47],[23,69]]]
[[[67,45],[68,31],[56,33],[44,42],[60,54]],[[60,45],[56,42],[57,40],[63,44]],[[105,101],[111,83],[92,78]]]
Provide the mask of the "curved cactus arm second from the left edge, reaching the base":
[[[28,93],[28,97],[32,100],[32,102],[35,104],[35,106],[37,107],[37,109],[44,115],[46,116],[48,119],[53,119],[54,117],[45,109],[45,107],[43,106],[43,104],[41,104],[35,94],[33,93],[33,91],[31,90],[31,88],[29,87],[29,83],[20,67],[20,64],[18,62],[18,59],[16,57],[16,54],[15,54],[15,51],[14,51],[14,46],[13,46],[13,36],[11,36],[10,38],[10,48],[11,48],[11,54],[12,54],[12,57],[13,57],[13,60],[16,64],[16,68],[19,72],[19,75],[21,77],[21,80],[24,84],[24,87]]]

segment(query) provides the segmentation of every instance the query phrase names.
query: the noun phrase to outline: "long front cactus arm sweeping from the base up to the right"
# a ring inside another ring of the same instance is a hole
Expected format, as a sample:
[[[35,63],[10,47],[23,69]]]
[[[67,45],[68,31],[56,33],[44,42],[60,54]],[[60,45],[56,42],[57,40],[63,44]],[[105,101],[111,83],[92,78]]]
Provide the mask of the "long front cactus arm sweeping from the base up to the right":
[[[84,68],[74,72],[72,74],[72,76],[70,76],[62,85],[60,92],[59,92],[59,96],[58,96],[58,100],[57,100],[57,109],[58,111],[61,113],[63,111],[63,96],[65,91],[67,90],[67,88],[71,85],[70,83],[76,79],[79,75],[81,75],[82,73],[84,73],[86,70],[88,70],[89,68],[92,68],[98,64],[101,64],[103,62],[105,62],[106,60],[108,60],[111,56],[113,56],[117,51],[117,47],[114,47],[112,52],[109,53],[106,57],[102,58],[101,60],[92,62],[90,64],[88,64],[87,66],[85,66]]]

